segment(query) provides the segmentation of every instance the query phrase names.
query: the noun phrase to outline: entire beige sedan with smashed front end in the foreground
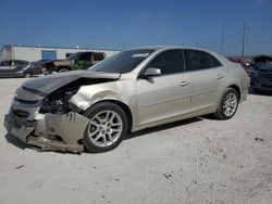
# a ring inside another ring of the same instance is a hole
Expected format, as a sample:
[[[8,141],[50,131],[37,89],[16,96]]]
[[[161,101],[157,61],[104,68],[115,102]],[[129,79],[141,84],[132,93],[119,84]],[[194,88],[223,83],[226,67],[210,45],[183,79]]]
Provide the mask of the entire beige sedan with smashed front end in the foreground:
[[[4,126],[42,150],[106,152],[128,131],[211,113],[228,119],[247,85],[243,68],[207,50],[131,49],[88,71],[24,82]]]

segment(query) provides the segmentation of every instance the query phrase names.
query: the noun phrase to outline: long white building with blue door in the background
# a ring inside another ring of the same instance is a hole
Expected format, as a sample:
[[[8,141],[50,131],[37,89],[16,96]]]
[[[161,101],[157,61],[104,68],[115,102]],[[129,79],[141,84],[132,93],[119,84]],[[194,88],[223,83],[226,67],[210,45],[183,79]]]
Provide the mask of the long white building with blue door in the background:
[[[87,49],[87,48],[54,48],[54,47],[33,47],[33,46],[3,46],[0,60],[25,60],[29,62],[38,60],[55,60],[66,59],[69,55],[76,52],[94,51],[103,52],[107,58],[115,54],[116,50],[99,50],[99,49]]]

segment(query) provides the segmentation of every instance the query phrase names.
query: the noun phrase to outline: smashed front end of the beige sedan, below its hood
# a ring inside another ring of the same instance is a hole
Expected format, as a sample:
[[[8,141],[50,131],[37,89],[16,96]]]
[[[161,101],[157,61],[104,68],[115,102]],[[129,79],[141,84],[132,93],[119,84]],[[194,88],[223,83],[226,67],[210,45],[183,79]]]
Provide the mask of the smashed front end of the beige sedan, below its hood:
[[[65,85],[62,81],[61,87],[52,89],[52,92],[47,89],[42,91],[41,85],[39,90],[23,85],[15,92],[10,111],[4,117],[4,126],[10,135],[41,150],[82,152],[82,140],[89,119],[71,99],[81,86],[115,79],[78,77],[67,80]]]

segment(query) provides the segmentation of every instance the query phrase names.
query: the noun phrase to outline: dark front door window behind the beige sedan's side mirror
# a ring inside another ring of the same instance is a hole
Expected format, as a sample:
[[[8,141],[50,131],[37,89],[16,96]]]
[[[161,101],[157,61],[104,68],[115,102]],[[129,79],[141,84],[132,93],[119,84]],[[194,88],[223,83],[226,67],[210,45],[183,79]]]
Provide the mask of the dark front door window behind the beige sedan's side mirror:
[[[182,50],[165,51],[156,56],[148,67],[160,68],[162,75],[184,72],[184,58]]]

